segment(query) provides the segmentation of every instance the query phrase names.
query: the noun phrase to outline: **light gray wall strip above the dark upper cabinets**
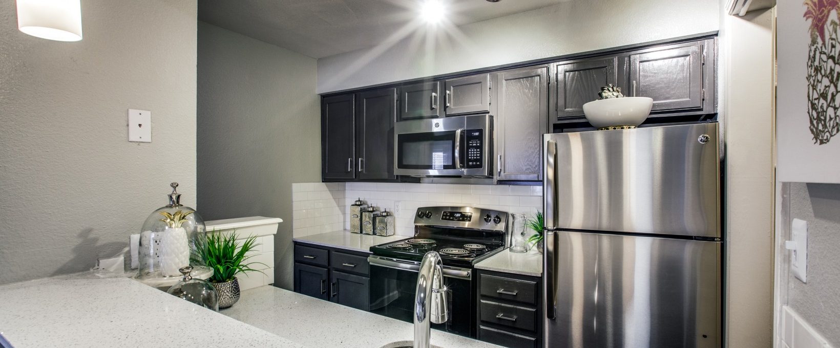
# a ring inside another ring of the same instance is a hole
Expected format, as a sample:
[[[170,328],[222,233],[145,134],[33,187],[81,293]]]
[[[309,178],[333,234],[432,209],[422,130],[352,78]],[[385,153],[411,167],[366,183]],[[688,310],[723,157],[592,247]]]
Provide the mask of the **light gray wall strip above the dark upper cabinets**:
[[[719,28],[719,3],[575,0],[441,30],[432,49],[420,30],[392,46],[318,60],[318,92],[706,33]]]

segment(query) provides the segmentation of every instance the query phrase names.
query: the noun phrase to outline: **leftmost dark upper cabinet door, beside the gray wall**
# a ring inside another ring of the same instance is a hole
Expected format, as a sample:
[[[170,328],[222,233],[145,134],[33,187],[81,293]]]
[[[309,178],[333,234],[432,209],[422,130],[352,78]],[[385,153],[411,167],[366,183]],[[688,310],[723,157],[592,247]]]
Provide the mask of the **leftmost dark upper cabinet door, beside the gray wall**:
[[[321,99],[323,179],[354,179],[355,103],[353,94]]]

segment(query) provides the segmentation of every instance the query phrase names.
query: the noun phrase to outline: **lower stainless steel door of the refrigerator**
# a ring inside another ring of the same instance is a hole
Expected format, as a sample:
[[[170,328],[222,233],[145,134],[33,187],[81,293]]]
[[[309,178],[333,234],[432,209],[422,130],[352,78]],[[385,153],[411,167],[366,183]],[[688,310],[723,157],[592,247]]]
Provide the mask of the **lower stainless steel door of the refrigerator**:
[[[546,233],[547,347],[720,347],[721,243]]]

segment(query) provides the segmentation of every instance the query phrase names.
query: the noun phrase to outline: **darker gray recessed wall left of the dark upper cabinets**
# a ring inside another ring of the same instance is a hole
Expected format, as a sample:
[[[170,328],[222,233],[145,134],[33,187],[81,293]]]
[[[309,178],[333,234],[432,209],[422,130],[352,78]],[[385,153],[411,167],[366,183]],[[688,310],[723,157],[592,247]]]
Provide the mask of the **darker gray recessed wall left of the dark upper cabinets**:
[[[291,184],[320,181],[316,61],[198,24],[198,202],[206,219],[280,217],[275,284],[291,289]]]

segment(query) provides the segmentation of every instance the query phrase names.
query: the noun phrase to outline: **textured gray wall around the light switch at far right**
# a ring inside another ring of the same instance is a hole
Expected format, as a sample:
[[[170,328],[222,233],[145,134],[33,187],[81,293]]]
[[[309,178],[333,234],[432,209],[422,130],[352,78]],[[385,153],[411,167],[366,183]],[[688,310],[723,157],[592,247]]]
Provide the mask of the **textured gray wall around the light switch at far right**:
[[[791,273],[787,304],[840,346],[840,184],[791,183],[789,209],[790,219],[808,221],[808,283]]]

